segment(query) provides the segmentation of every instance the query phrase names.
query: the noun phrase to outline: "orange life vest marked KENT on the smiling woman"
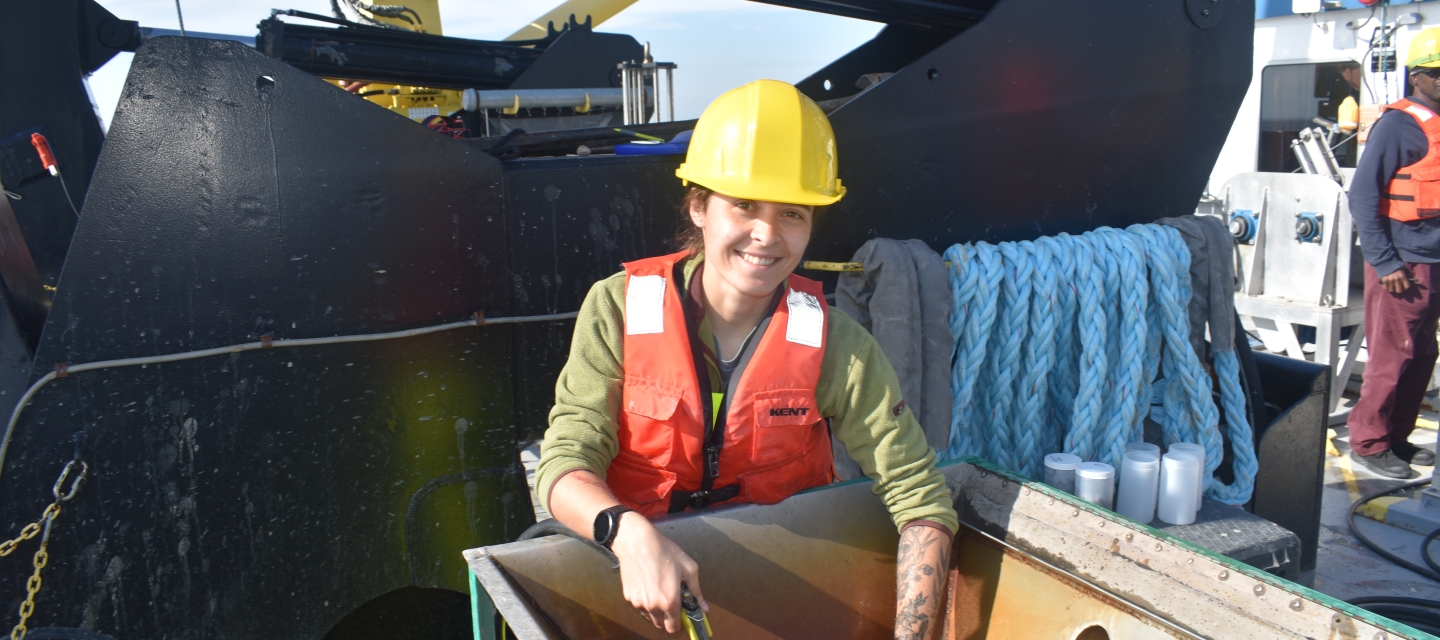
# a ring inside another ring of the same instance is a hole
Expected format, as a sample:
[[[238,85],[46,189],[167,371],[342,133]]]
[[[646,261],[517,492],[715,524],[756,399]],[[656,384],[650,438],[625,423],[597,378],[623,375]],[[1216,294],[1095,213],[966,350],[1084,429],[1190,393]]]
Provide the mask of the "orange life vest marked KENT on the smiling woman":
[[[726,502],[773,505],[831,483],[829,428],[815,402],[827,324],[819,283],[789,277],[732,381],[724,427],[713,432],[714,398],[700,385],[675,285],[675,265],[688,255],[625,264],[625,385],[606,484],[625,506],[658,516]]]

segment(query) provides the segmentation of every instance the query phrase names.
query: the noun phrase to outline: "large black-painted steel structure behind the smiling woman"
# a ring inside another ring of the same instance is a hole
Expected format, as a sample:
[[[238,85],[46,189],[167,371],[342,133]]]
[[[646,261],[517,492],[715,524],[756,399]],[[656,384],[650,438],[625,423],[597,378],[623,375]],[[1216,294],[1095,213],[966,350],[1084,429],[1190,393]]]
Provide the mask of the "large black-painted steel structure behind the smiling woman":
[[[1251,1],[1204,1],[1221,17],[1194,19],[1194,0],[779,3],[893,22],[801,82],[832,99],[894,72],[831,114],[850,193],[809,258],[873,236],[945,246],[1188,213],[1251,68]],[[0,102],[0,137],[45,123]],[[680,157],[526,157],[524,140],[501,160],[492,140],[436,135],[242,45],[150,40],[29,379],[262,336],[573,311],[621,261],[672,246]],[[58,236],[20,218],[32,252]],[[464,637],[445,614],[464,603],[459,549],[531,522],[516,448],[544,428],[570,332],[459,329],[52,382],[0,470],[0,530],[39,516],[76,431],[91,481],[52,535],[32,627]],[[0,564],[0,610],[29,571]]]

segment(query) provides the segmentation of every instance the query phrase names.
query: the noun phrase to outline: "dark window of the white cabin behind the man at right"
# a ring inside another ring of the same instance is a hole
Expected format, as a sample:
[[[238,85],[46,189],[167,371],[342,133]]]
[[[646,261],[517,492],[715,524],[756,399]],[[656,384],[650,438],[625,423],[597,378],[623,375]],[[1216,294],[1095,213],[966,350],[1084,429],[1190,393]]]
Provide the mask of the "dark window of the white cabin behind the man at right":
[[[1359,101],[1361,66],[1356,62],[1274,65],[1260,74],[1260,157],[1256,170],[1290,173],[1300,169],[1290,143],[1313,118],[1335,121],[1345,97]],[[1346,140],[1348,138],[1348,140]],[[1344,140],[1344,143],[1342,143]],[[1354,167],[1358,146],[1351,134],[1335,137],[1335,160]]]

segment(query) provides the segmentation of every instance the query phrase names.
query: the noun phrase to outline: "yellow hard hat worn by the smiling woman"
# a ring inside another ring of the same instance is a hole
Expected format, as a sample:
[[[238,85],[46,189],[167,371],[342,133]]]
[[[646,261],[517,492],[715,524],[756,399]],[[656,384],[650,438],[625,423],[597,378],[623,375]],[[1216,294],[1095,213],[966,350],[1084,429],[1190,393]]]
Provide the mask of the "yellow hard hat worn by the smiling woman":
[[[819,105],[788,82],[762,79],[706,107],[675,176],[730,197],[824,206],[845,195],[837,164],[835,131]]]

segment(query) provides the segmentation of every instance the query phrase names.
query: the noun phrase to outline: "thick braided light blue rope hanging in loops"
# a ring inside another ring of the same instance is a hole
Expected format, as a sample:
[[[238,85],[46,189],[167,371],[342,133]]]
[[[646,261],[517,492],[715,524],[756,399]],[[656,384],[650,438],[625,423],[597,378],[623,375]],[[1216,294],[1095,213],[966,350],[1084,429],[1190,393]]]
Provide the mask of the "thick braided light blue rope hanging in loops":
[[[1230,349],[1212,356],[1217,409],[1189,343],[1191,258],[1179,232],[1100,228],[955,245],[945,257],[955,337],[945,457],[985,455],[1030,477],[1056,450],[1119,467],[1151,415],[1166,444],[1205,447],[1208,496],[1250,500],[1259,464],[1238,360]],[[1221,411],[1236,476],[1228,486],[1214,479]]]

